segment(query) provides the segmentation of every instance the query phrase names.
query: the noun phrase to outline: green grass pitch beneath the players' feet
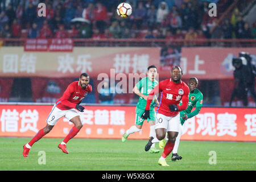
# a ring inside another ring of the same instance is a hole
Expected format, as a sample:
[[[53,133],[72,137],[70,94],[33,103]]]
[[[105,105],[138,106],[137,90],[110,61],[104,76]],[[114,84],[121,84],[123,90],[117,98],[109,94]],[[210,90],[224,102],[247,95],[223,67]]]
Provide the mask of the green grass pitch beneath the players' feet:
[[[159,171],[159,170],[256,170],[256,143],[249,142],[195,142],[181,141],[180,161],[170,167],[158,165],[159,154],[144,151],[147,140],[76,139],[68,142],[69,154],[57,145],[62,139],[43,138],[30,150],[28,158],[22,155],[23,144],[30,138],[0,138],[1,170],[97,170],[97,171]],[[158,143],[156,144],[158,147]],[[46,154],[46,164],[39,164]],[[210,151],[216,152],[216,163],[209,164]]]

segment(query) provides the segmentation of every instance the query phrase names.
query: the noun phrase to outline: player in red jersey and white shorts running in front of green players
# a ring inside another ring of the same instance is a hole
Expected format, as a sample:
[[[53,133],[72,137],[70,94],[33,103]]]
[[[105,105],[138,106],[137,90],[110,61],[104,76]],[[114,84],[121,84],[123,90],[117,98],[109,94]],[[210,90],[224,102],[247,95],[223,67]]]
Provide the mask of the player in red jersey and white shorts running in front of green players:
[[[174,148],[175,140],[179,134],[180,114],[179,111],[185,110],[188,107],[189,88],[185,82],[181,81],[182,69],[179,66],[174,66],[171,71],[171,78],[160,81],[158,85],[150,92],[147,97],[147,105],[142,114],[143,119],[150,118],[150,103],[155,94],[161,92],[161,98],[158,109],[156,110],[156,138],[150,138],[145,146],[145,151],[149,150],[152,143],[159,142],[159,140],[166,137],[168,134],[168,142],[164,147],[163,154],[158,160],[158,164],[162,166],[169,166],[166,163],[166,157]],[[180,100],[182,105],[180,106]]]

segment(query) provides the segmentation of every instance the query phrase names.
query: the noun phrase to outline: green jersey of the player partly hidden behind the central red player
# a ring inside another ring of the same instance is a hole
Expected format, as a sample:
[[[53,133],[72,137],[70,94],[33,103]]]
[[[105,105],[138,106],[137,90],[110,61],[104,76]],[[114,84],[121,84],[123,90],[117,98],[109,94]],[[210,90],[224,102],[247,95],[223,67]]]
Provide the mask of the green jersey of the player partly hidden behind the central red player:
[[[195,89],[193,93],[189,92],[189,101],[188,107],[186,110],[180,111],[180,123],[181,125],[184,124],[184,113],[188,115],[188,118],[194,117],[196,114],[199,114],[201,107],[203,106],[203,94],[200,92],[199,89]],[[182,103],[180,103],[182,105]],[[196,109],[192,111],[193,107],[196,106]]]

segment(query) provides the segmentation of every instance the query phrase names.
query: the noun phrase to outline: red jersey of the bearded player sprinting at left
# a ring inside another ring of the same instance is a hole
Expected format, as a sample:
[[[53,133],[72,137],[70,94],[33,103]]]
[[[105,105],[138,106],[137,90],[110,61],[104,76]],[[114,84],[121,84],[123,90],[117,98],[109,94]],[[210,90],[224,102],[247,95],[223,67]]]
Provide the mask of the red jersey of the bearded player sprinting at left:
[[[76,108],[76,105],[80,104],[82,99],[85,98],[85,96],[90,92],[92,92],[91,85],[88,84],[85,89],[82,89],[79,81],[73,81],[68,85],[68,88],[63,93],[63,96],[57,100],[56,107],[60,110]]]

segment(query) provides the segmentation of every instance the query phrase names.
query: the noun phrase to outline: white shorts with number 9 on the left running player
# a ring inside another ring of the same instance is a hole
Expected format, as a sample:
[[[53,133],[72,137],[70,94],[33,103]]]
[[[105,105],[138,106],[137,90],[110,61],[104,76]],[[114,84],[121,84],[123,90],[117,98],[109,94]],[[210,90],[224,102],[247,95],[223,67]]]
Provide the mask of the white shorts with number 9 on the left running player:
[[[76,109],[69,109],[69,110],[60,110],[56,107],[56,104],[52,107],[52,111],[49,114],[48,118],[46,119],[46,122],[48,125],[54,126],[56,122],[61,118],[65,117],[68,119],[72,119],[73,117],[76,117],[77,115],[80,116],[79,112]]]

